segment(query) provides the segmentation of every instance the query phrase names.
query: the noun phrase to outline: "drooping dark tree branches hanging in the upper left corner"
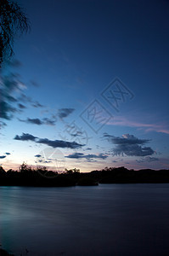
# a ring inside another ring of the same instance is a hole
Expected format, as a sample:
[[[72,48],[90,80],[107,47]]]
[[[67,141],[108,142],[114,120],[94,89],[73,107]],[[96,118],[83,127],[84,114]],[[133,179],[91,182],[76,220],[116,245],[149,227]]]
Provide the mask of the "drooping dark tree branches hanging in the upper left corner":
[[[14,38],[30,30],[30,22],[18,3],[0,0],[0,67],[14,55]]]

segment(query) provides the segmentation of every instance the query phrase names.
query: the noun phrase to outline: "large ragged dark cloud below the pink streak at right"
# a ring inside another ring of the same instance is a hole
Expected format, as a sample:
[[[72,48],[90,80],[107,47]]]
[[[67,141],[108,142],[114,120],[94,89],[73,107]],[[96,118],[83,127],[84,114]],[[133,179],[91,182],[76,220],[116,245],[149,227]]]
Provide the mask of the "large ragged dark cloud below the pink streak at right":
[[[147,156],[152,155],[155,151],[150,147],[143,147],[145,143],[149,143],[148,139],[138,139],[130,134],[124,134],[122,137],[115,137],[107,133],[104,137],[110,142],[115,144],[113,149],[114,155],[127,154],[129,156]]]

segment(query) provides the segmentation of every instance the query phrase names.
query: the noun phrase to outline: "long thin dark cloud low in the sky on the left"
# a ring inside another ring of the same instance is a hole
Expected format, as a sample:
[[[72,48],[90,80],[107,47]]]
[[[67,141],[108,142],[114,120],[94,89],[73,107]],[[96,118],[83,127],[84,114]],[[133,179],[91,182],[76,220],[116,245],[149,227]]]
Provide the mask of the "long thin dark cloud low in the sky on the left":
[[[33,135],[29,133],[22,133],[21,136],[16,135],[14,137],[14,140],[18,141],[33,141],[40,144],[48,145],[52,148],[81,148],[82,144],[76,143],[76,142],[67,142],[62,140],[49,140],[48,138],[38,138],[34,137]]]

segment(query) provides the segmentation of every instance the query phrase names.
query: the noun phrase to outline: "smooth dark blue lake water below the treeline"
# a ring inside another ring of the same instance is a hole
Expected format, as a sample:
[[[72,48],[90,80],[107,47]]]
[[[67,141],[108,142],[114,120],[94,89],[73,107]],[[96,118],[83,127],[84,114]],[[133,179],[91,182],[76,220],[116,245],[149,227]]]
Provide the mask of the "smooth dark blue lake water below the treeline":
[[[0,243],[15,255],[169,255],[168,237],[169,184],[0,187]]]

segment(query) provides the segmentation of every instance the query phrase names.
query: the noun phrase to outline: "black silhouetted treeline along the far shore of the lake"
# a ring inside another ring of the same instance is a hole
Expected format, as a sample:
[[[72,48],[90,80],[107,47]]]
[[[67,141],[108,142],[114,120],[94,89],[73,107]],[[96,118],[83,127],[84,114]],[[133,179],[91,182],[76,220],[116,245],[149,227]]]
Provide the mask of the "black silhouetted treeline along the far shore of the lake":
[[[0,186],[36,186],[62,187],[75,185],[98,185],[99,183],[169,183],[169,170],[139,171],[127,170],[125,167],[108,168],[101,171],[81,173],[78,169],[58,173],[48,171],[45,167],[32,169],[23,163],[19,171],[12,169],[5,172],[0,166]]]

